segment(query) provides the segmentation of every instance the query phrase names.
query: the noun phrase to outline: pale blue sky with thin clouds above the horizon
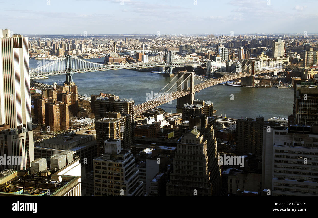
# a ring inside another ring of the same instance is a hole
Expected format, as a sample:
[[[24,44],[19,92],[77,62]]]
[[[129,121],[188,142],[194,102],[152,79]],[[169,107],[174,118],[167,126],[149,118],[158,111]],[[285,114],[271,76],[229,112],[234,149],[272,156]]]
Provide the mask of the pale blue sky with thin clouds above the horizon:
[[[318,33],[317,0],[0,0],[14,34]]]

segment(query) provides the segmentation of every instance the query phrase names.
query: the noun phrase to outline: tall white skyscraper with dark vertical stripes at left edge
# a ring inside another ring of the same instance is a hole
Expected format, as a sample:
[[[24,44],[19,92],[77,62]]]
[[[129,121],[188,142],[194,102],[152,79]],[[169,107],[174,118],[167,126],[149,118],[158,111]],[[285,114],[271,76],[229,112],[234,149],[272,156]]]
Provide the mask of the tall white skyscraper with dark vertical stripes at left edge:
[[[28,38],[5,29],[0,39],[0,123],[31,130]]]

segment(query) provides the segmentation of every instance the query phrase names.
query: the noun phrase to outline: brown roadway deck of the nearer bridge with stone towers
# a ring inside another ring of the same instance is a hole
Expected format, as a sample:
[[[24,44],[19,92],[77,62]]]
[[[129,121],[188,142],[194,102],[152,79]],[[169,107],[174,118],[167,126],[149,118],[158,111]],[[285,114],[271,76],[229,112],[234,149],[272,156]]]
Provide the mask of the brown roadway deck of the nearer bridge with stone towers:
[[[257,75],[257,74],[263,74],[263,73],[270,73],[270,72],[273,72],[273,71],[274,71],[273,69],[261,70],[261,71],[256,71],[254,74]],[[205,88],[211,87],[211,86],[216,85],[218,83],[223,83],[223,82],[226,82],[226,81],[229,81],[229,80],[238,79],[238,78],[242,78],[242,77],[246,77],[246,76],[251,76],[251,73],[234,74],[234,75],[231,75],[231,76],[223,76],[223,77],[220,77],[218,79],[214,79],[214,80],[211,80],[211,81],[207,81],[207,82],[203,82],[203,83],[199,83],[199,84],[195,85],[194,86],[194,91],[197,92],[197,91],[199,91],[201,89],[205,89]],[[170,98],[165,98],[165,99],[160,99],[160,100],[156,100],[157,99],[156,98],[156,99],[153,99],[153,100],[138,104],[138,105],[135,106],[135,115],[141,114],[142,112],[144,112],[144,111],[146,111],[148,109],[151,109],[151,108],[154,108],[154,107],[158,107],[158,106],[160,106],[160,105],[162,105],[164,103],[170,102],[170,101],[175,100],[177,98],[189,95],[189,91],[190,91],[189,89],[188,90],[182,89],[180,91],[176,91],[176,92],[171,93]]]

